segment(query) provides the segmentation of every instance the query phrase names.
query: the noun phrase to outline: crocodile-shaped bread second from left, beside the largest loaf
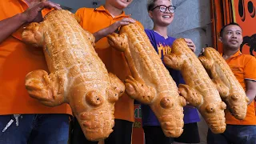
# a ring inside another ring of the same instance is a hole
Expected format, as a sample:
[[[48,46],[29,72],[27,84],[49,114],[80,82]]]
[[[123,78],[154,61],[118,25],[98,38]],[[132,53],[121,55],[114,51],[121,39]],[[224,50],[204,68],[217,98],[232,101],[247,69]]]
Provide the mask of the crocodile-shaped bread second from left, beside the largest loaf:
[[[132,76],[125,80],[126,94],[150,106],[166,137],[179,137],[186,102],[145,31],[134,23],[122,26],[119,34],[110,34],[108,40],[110,46],[124,52],[130,67]]]

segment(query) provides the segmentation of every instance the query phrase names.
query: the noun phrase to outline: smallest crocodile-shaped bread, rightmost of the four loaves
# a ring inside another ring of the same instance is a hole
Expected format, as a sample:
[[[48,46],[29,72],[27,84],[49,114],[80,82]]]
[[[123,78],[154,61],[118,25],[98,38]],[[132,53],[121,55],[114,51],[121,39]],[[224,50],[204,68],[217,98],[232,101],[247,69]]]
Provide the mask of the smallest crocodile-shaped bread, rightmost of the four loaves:
[[[234,115],[234,118],[240,120],[246,118],[249,99],[224,58],[214,48],[207,47],[199,59],[217,86],[223,102],[226,102],[227,108]]]

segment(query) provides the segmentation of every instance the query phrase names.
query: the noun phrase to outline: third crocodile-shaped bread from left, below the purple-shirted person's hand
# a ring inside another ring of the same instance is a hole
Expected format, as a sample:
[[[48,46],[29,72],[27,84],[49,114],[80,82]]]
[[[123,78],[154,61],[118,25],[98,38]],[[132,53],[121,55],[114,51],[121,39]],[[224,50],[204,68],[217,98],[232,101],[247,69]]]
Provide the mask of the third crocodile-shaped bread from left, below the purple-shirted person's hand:
[[[181,70],[186,85],[180,84],[178,89],[186,102],[197,107],[213,133],[223,133],[226,130],[226,104],[222,102],[202,63],[183,38],[174,41],[171,53],[166,54],[163,61],[166,66]]]

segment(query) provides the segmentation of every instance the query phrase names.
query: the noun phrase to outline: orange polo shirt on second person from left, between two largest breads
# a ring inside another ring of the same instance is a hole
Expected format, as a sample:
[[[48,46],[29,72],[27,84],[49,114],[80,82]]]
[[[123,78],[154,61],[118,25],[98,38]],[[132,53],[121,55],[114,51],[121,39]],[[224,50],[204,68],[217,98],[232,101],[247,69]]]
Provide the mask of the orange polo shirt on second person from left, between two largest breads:
[[[110,26],[122,18],[129,17],[123,12],[119,16],[113,18],[110,12],[105,10],[104,6],[100,6],[96,9],[80,8],[76,12],[76,15],[82,19],[80,22],[82,28],[90,31],[92,34]],[[142,26],[139,22],[138,24]],[[122,82],[126,79],[127,75],[130,75],[130,69],[126,63],[124,54],[110,47],[107,38],[102,38],[96,42],[95,50],[98,53],[99,58],[104,62],[106,69],[109,72],[116,74]],[[116,119],[134,122],[134,100],[129,98],[127,94],[123,94],[114,106],[114,117]]]

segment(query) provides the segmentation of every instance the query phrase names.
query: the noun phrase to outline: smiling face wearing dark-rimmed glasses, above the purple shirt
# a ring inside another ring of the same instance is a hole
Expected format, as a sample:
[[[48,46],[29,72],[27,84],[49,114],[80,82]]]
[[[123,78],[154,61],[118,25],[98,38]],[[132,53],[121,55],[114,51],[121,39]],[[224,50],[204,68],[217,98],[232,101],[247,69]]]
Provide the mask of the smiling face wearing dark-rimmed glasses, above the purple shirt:
[[[156,6],[172,6],[170,0],[157,0],[154,2],[154,7]],[[169,26],[174,20],[174,14],[170,13],[167,9],[166,12],[161,12],[160,7],[155,8],[154,10],[149,10],[149,16],[153,20],[154,24],[159,26]]]

